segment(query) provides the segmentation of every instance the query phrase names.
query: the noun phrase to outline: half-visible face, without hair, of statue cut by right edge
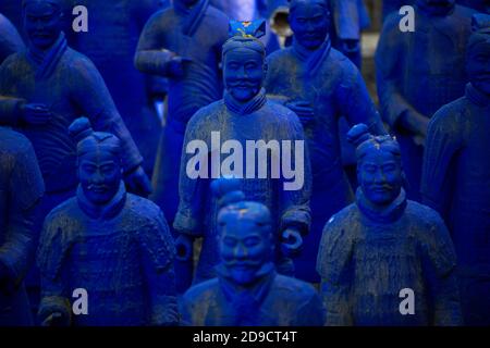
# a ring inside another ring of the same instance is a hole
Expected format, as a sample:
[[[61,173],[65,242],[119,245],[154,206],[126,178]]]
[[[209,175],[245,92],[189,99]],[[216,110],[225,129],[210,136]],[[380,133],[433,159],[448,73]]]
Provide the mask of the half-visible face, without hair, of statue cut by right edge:
[[[468,52],[466,70],[473,86],[490,95],[490,42],[477,45]]]

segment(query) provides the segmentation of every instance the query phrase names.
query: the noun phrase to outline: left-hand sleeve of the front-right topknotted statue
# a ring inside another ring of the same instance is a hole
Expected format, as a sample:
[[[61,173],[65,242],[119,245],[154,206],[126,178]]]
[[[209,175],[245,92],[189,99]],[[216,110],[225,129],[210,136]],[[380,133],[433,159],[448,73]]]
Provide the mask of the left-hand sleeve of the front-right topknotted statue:
[[[344,228],[345,222],[354,223],[348,215],[340,217],[336,214],[330,219],[323,228],[317,259],[326,323],[332,326],[353,325],[350,298],[353,240]]]

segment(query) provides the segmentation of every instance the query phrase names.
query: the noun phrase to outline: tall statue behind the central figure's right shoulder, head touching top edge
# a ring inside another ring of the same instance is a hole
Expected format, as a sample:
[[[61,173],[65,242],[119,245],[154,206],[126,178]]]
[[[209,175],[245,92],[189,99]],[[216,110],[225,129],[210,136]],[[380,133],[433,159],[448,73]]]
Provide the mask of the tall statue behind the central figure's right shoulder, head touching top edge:
[[[285,99],[305,128],[313,170],[313,224],[303,254],[295,260],[296,275],[318,283],[315,262],[321,229],[353,200],[342,166],[339,119],[345,116],[351,124],[364,122],[375,134],[385,130],[359,71],[331,47],[328,2],[293,0],[290,22],[294,42],[268,57],[265,88]]]

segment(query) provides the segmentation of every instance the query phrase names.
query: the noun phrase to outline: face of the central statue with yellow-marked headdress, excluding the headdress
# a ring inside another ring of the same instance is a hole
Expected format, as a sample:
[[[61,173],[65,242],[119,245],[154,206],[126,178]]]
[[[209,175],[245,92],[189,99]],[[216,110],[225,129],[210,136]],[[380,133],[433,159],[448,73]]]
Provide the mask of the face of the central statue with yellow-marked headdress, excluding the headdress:
[[[226,90],[238,101],[249,101],[266,77],[264,58],[252,49],[233,49],[224,55],[223,75]]]

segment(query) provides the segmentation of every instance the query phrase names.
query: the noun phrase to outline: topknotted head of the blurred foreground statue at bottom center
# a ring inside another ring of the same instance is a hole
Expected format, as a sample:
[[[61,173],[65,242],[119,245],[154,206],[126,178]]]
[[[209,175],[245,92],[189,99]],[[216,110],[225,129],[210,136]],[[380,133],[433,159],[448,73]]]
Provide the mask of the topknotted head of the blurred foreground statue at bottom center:
[[[238,179],[215,181],[212,190],[221,197],[218,213],[221,262],[233,282],[252,285],[260,277],[260,269],[272,262],[274,239],[269,209],[246,201]]]

